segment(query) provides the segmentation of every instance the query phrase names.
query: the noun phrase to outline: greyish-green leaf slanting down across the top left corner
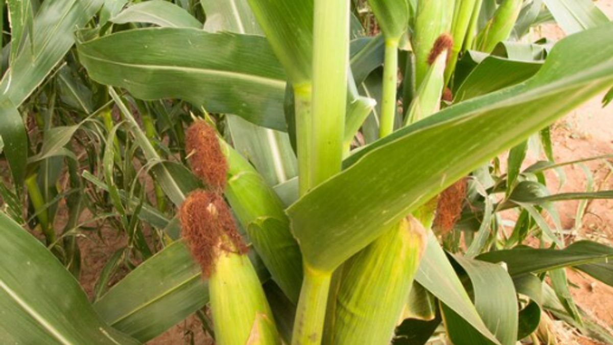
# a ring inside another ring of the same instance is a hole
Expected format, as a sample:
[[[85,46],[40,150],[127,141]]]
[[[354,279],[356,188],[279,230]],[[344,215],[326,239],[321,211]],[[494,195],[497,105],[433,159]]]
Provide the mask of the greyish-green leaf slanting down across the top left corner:
[[[66,55],[82,28],[100,9],[102,0],[47,0],[34,18],[32,39],[23,42],[19,55],[0,83],[2,94],[19,106]]]

